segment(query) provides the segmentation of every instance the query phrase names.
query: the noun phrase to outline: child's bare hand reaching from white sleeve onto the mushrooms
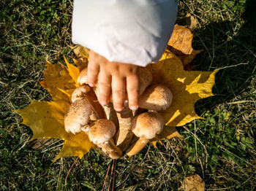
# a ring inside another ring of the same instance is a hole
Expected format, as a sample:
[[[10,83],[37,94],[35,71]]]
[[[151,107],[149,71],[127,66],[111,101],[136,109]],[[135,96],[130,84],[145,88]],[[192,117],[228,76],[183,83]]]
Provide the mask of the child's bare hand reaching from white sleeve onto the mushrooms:
[[[96,84],[99,86],[100,104],[107,105],[109,103],[112,90],[113,106],[116,111],[119,112],[124,109],[126,93],[129,99],[129,108],[138,109],[138,66],[129,63],[110,62],[91,50],[88,64],[88,83],[91,87]]]

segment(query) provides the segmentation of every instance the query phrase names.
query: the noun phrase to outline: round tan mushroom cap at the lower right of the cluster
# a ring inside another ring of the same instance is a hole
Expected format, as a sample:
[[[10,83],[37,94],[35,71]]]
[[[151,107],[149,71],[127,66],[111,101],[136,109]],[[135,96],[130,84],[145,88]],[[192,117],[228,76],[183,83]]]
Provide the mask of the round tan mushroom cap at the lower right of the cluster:
[[[139,114],[132,120],[132,133],[143,139],[153,139],[163,128],[164,120],[157,112]]]

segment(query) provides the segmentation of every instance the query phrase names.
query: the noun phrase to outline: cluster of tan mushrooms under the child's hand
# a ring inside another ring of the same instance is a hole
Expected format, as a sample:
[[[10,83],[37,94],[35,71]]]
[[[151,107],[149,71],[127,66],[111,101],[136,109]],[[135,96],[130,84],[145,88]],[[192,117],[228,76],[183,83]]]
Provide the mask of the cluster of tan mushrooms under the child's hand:
[[[140,152],[148,141],[154,139],[164,128],[164,120],[158,113],[167,109],[173,95],[163,85],[151,85],[152,74],[146,68],[140,68],[139,111],[129,109],[128,101],[124,109],[116,112],[113,104],[102,106],[106,119],[97,119],[94,109],[86,98],[90,87],[87,84],[87,69],[78,77],[80,84],[72,93],[72,104],[64,117],[67,132],[86,132],[90,141],[100,147],[111,158],[117,159],[124,154],[132,156]],[[94,88],[97,95],[97,87]]]

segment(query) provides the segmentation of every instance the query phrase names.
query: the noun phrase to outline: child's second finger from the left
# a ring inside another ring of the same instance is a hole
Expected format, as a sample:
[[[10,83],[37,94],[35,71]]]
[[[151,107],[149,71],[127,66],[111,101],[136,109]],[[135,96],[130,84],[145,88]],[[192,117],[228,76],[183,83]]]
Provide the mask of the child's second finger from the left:
[[[106,74],[104,70],[99,71],[98,88],[99,103],[105,106],[110,98],[111,75]]]

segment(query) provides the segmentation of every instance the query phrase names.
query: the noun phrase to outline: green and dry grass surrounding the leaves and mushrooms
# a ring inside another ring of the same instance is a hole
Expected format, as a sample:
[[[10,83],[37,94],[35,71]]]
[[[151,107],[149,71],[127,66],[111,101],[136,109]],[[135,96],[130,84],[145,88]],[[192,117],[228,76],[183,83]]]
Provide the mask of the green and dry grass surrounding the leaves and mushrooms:
[[[147,146],[116,165],[116,190],[178,190],[185,176],[199,174],[206,190],[256,187],[256,23],[253,1],[179,2],[177,23],[193,15],[197,70],[221,69],[216,96],[198,101],[197,120],[178,128],[184,140]],[[100,190],[111,163],[97,150],[82,160],[66,157],[52,164],[62,142],[29,148],[31,130],[11,109],[31,99],[50,100],[39,85],[45,58],[64,63],[69,45],[72,2],[2,1],[0,11],[0,190]],[[245,64],[241,64],[245,63]],[[108,181],[106,187],[108,187]]]

